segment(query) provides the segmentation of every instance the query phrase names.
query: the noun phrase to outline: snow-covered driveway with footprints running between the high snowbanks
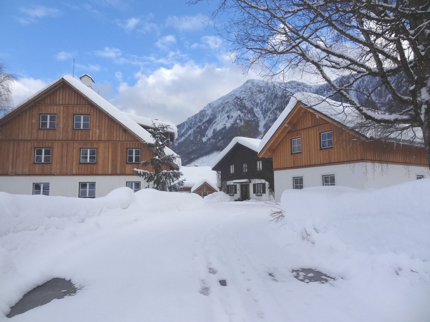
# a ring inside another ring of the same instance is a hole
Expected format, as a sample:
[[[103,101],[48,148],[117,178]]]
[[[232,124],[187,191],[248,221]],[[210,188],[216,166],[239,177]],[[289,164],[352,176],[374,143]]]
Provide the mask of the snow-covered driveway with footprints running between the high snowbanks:
[[[311,241],[287,236],[286,229],[270,222],[269,212],[264,203],[251,202],[189,211],[136,210],[131,218],[124,211],[118,225],[94,230],[83,222],[80,227],[88,231],[47,231],[40,246],[34,240],[31,257],[14,251],[21,274],[14,285],[25,289],[62,277],[82,289],[12,319],[0,314],[0,321],[381,322],[402,321],[402,313],[410,314],[400,307],[405,299],[425,307],[427,300],[414,295],[417,289],[407,278],[388,273],[385,262],[360,254],[351,259],[353,250],[316,249]],[[71,237],[56,242],[61,234]],[[52,243],[44,246],[49,238]],[[340,252],[353,264],[335,267],[315,255],[322,251],[327,256]],[[372,266],[374,274],[362,279],[359,269],[348,270],[353,265]],[[337,273],[338,279],[306,284],[291,274],[301,267],[331,268],[327,273]]]

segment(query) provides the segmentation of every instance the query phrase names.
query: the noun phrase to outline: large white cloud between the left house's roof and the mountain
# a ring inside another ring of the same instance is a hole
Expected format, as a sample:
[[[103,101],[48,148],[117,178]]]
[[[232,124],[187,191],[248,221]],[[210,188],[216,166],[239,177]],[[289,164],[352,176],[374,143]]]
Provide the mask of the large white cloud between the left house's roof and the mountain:
[[[112,103],[123,111],[178,124],[203,107],[243,84],[242,70],[230,65],[198,66],[192,62],[137,73],[137,82],[123,82]]]

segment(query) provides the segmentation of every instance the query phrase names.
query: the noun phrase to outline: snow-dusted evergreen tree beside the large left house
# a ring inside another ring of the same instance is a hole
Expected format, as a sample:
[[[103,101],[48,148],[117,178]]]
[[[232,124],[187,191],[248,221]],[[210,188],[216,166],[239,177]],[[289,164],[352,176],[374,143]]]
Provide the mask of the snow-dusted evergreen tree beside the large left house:
[[[150,160],[145,160],[140,163],[142,167],[151,165],[154,168],[154,172],[133,169],[133,171],[146,182],[152,183],[153,189],[160,191],[178,191],[184,185],[184,179],[180,180],[182,173],[178,170],[163,170],[163,165],[168,165],[169,162],[175,162],[179,155],[172,154],[166,155],[164,151],[168,146],[170,139],[164,136],[169,127],[166,125],[156,126],[153,123],[154,129],[147,130],[151,137],[154,139],[154,143],[143,141],[142,143],[153,151],[153,157]]]

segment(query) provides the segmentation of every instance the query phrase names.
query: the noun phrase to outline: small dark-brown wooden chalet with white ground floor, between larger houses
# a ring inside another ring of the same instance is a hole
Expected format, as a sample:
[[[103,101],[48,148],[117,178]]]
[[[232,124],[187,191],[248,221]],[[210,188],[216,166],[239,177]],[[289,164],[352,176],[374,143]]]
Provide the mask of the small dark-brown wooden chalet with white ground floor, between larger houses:
[[[221,190],[235,200],[273,197],[272,160],[257,156],[261,140],[235,137],[212,161],[221,178]]]

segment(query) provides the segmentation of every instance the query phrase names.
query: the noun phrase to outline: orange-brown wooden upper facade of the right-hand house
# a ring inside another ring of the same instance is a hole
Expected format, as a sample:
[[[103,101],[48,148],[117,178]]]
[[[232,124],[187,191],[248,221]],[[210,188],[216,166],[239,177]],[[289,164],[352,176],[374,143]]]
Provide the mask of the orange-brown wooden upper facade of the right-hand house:
[[[320,133],[332,131],[333,147],[320,149]],[[292,153],[292,139],[301,138],[301,153]],[[369,140],[300,102],[276,130],[259,157],[272,158],[274,170],[353,162],[427,166],[424,148]]]

